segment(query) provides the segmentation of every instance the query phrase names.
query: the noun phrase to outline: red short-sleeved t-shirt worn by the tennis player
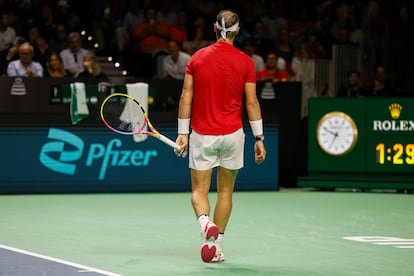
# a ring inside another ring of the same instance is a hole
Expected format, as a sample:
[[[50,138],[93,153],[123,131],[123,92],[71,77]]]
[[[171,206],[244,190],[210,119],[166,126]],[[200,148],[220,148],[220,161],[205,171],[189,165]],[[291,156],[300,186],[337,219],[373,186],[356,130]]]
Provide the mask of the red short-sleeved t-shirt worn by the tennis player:
[[[225,42],[194,53],[186,73],[193,76],[191,127],[204,135],[224,135],[243,126],[246,83],[256,83],[251,57]]]

